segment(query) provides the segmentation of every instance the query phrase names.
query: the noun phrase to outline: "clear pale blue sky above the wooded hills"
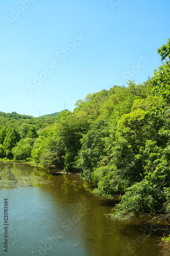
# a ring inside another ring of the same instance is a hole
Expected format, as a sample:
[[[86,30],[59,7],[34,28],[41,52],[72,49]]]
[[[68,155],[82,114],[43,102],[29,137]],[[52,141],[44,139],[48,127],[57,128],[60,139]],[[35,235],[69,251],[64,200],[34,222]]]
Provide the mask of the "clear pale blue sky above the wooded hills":
[[[169,0],[0,4],[0,111],[73,111],[87,94],[147,81],[170,37]]]

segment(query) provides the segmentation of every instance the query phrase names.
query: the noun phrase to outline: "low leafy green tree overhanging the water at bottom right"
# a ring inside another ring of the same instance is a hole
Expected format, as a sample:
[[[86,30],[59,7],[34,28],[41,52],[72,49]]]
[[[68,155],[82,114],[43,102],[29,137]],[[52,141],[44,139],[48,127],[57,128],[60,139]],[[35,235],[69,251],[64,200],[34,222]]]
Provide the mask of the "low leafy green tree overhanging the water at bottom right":
[[[169,152],[169,143],[162,148],[156,141],[148,140],[145,147],[141,147],[137,157],[142,159],[144,179],[126,189],[113,219],[130,220],[145,213],[150,216],[170,213]]]

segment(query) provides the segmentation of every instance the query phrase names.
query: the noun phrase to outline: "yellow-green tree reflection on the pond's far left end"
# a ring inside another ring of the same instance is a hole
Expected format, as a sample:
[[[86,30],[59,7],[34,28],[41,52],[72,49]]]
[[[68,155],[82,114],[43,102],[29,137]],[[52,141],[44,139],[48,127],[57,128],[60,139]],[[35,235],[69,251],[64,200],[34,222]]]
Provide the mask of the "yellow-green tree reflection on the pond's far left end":
[[[0,162],[0,175],[0,189],[36,186],[51,179],[41,168],[26,163]]]

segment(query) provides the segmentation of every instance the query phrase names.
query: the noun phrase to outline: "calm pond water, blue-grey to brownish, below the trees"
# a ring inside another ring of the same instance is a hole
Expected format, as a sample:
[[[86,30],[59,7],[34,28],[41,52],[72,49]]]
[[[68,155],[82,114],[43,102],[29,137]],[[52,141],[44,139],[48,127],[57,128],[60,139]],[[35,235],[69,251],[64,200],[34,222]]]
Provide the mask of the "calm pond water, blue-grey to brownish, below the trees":
[[[0,255],[149,256],[158,239],[106,218],[113,202],[91,195],[77,175],[47,175],[25,163],[0,162]],[[3,249],[8,199],[8,252]]]

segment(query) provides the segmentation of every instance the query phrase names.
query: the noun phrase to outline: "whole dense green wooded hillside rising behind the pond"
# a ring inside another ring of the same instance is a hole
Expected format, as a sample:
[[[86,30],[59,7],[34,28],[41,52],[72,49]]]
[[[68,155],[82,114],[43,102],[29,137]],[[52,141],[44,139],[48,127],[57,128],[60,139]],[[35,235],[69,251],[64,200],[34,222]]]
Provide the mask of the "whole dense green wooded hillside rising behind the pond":
[[[88,94],[54,122],[4,119],[1,157],[80,172],[95,195],[123,195],[114,219],[170,216],[170,39],[158,53],[151,79]]]

